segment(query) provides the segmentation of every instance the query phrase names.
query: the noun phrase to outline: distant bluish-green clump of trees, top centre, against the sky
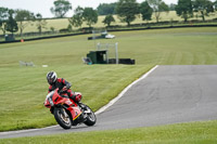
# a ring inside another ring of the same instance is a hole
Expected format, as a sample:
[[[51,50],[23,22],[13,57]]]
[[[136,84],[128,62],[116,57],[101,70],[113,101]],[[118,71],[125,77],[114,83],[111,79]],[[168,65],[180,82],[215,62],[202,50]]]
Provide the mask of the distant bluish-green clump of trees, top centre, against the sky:
[[[108,15],[108,14],[115,14],[115,3],[102,3],[100,4],[97,10],[99,15]]]

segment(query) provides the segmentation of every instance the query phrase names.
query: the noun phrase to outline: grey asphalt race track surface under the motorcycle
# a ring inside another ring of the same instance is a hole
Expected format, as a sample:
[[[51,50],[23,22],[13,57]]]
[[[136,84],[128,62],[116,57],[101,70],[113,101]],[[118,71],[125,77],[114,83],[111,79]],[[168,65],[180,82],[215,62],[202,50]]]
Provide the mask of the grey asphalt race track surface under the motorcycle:
[[[97,115],[93,127],[1,132],[0,139],[152,127],[217,119],[217,65],[158,66]]]

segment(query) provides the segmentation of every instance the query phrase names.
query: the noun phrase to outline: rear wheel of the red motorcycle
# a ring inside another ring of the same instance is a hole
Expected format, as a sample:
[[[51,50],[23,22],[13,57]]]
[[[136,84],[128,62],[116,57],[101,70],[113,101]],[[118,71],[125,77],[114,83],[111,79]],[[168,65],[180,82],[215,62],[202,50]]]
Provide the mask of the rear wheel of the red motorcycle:
[[[87,125],[87,126],[93,126],[97,122],[97,117],[89,106],[87,106],[87,105],[85,105],[85,106],[86,106],[86,110],[89,110],[90,113],[86,114],[87,118],[86,118],[86,121],[84,123]]]

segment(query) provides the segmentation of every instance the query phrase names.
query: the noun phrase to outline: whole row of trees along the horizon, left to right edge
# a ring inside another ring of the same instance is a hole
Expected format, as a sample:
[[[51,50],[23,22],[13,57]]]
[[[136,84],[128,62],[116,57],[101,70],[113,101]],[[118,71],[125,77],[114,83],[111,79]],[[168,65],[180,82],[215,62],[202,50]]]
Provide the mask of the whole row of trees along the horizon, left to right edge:
[[[72,9],[72,3],[68,0],[55,0],[50,11],[54,17],[60,18],[65,17],[66,13]],[[177,15],[182,17],[184,22],[194,16],[202,17],[205,21],[206,16],[217,11],[217,0],[215,2],[209,0],[178,0],[177,4],[170,3],[169,5],[163,0],[144,0],[141,3],[138,3],[136,0],[118,0],[114,3],[101,3],[95,10],[78,6],[74,10],[74,15],[68,18],[66,30],[71,31],[73,27],[81,29],[84,23],[92,27],[92,25],[98,23],[99,15],[105,15],[102,23],[107,27],[115,22],[114,14],[118,16],[122,23],[126,23],[127,26],[130,26],[138,16],[149,22],[152,19],[152,15],[154,15],[156,23],[158,23],[162,12],[169,11],[176,11]],[[3,35],[7,31],[14,34],[20,30],[22,36],[28,25],[35,25],[40,34],[46,28],[47,21],[42,18],[40,13],[34,14],[27,10],[0,8],[0,29]],[[54,28],[51,27],[50,30],[52,31]]]

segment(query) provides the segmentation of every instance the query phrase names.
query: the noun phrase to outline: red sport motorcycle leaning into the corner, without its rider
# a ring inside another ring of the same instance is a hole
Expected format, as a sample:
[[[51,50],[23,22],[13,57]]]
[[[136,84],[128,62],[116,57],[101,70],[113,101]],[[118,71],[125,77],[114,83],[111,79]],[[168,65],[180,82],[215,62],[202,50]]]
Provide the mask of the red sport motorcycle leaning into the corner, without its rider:
[[[97,117],[89,106],[82,103],[77,104],[67,95],[60,93],[59,89],[50,92],[43,104],[46,107],[50,108],[56,122],[63,129],[71,129],[72,126],[77,126],[79,123],[85,123],[87,126],[93,126],[95,123]]]

